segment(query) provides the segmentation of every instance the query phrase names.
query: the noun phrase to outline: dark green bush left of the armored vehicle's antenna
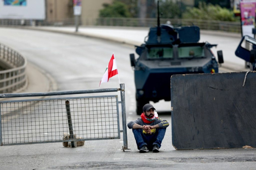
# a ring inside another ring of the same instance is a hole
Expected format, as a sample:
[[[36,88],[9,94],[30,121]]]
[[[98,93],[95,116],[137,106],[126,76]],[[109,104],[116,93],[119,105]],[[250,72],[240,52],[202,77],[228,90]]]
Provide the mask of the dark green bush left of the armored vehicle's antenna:
[[[112,4],[104,3],[104,8],[99,11],[99,17],[131,17],[124,3],[115,0]]]

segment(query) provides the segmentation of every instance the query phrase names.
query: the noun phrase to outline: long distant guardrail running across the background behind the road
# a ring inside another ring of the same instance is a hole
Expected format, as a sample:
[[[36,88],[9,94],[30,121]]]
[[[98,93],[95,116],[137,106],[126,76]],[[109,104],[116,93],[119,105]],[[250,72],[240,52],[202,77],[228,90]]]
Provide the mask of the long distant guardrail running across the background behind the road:
[[[74,18],[66,18],[59,21],[46,20],[17,20],[17,19],[1,19],[0,25],[8,26],[70,26],[75,24]],[[225,32],[241,33],[240,22],[228,22],[218,20],[199,20],[199,19],[168,19],[161,18],[161,23],[171,22],[173,26],[197,25],[200,29],[210,29]],[[81,20],[79,25],[90,26],[128,26],[128,27],[151,27],[157,25],[157,18],[89,18]]]

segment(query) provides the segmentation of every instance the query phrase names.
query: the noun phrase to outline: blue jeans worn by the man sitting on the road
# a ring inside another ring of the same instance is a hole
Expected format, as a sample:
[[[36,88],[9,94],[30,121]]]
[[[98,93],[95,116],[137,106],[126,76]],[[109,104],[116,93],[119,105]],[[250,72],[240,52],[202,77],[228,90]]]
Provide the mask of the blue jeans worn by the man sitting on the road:
[[[157,144],[161,147],[163,137],[165,137],[166,128],[157,128],[154,134],[144,134],[143,129],[133,129],[133,134],[136,140],[138,150],[143,146],[147,145],[150,151],[153,150],[153,145]]]

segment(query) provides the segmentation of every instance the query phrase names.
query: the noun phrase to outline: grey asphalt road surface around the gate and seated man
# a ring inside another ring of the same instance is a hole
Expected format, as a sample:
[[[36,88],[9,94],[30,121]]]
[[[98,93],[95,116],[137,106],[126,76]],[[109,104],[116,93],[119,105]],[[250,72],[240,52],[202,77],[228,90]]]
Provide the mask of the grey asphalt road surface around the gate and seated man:
[[[224,37],[224,39],[223,39]],[[225,57],[234,56],[232,49],[239,38],[221,35],[201,35],[201,40],[223,44]],[[126,89],[127,122],[137,119],[135,87],[127,44],[90,37],[0,28],[1,43],[27,57],[45,70],[57,83],[57,89],[81,90],[119,87],[118,77],[99,87],[99,82],[112,53],[117,60],[120,82]],[[211,41],[210,41],[211,40]],[[219,45],[220,46],[220,45]],[[218,48],[219,48],[218,46]],[[235,46],[235,47],[234,47]],[[231,54],[232,52],[232,54]],[[226,54],[225,54],[226,53]],[[233,63],[232,63],[233,62]],[[243,69],[244,63],[234,58],[227,68]],[[160,118],[171,121],[169,102],[154,104]],[[121,135],[122,136],[122,135]],[[0,147],[1,169],[255,169],[255,149],[175,150],[171,143],[171,127],[166,131],[159,153],[140,154],[132,131],[128,129],[128,148],[121,150],[121,139],[86,141],[85,146],[65,148],[62,143],[15,145]]]

